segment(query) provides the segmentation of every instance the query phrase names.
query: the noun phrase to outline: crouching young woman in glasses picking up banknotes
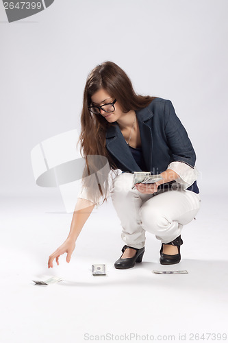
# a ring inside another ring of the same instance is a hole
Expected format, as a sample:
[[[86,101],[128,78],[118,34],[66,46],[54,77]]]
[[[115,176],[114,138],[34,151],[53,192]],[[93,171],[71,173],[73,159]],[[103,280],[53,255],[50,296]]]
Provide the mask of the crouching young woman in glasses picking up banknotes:
[[[115,268],[132,268],[142,261],[146,231],[162,242],[161,264],[179,263],[181,230],[197,215],[201,199],[196,154],[172,102],[136,95],[126,73],[114,62],[103,62],[88,75],[84,88],[79,141],[87,163],[88,156],[105,156],[111,172],[122,171],[110,189],[125,243]],[[151,171],[162,180],[138,183],[132,189],[134,171]],[[70,261],[75,241],[96,204],[88,196],[89,188],[79,194],[70,233],[49,256],[49,268],[54,259],[59,265],[64,252]],[[107,200],[108,192],[100,191]]]

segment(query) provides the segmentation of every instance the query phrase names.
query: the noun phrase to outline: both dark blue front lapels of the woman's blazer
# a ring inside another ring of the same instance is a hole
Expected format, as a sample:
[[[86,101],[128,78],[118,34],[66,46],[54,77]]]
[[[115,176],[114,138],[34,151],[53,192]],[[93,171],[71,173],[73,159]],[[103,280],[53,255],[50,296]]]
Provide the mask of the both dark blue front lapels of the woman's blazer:
[[[136,110],[136,117],[138,119],[138,126],[140,129],[140,138],[142,144],[142,153],[144,161],[147,165],[148,170],[151,170],[152,165],[152,147],[153,139],[151,132],[151,117],[153,113],[149,108],[142,108]],[[121,129],[116,121],[112,123],[106,132],[106,147],[107,150],[118,160],[122,165],[125,165],[129,171],[142,171],[137,165],[134,157],[129,150],[127,142],[123,137]]]

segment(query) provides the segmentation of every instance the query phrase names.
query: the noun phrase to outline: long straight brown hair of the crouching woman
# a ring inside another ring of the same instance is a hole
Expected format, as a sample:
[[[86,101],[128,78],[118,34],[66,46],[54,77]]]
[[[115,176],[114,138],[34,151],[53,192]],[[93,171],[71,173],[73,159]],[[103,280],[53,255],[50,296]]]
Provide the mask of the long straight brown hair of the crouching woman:
[[[125,71],[114,62],[103,62],[90,71],[84,88],[81,133],[78,142],[81,143],[82,156],[86,158],[88,174],[84,174],[84,176],[90,175],[91,166],[88,165],[88,155],[105,156],[112,171],[118,169],[105,147],[105,133],[107,128],[113,124],[108,123],[102,115],[94,115],[88,110],[88,106],[91,105],[92,95],[99,91],[100,88],[105,89],[110,97],[114,97],[118,101],[123,113],[147,107],[155,99],[155,97],[149,95],[137,95]],[[102,196],[105,196],[104,200],[107,200],[107,194],[104,195],[101,189],[100,192]]]

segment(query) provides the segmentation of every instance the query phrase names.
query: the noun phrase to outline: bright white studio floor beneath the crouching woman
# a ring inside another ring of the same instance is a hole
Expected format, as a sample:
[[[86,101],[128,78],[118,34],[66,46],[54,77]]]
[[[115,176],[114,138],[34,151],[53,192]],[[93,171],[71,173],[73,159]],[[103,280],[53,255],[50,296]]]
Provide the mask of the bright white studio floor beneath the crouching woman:
[[[203,333],[207,342],[218,342],[219,334],[224,341],[227,198],[201,199],[197,220],[181,233],[179,264],[160,265],[160,241],[147,234],[143,261],[129,270],[113,265],[123,241],[112,202],[94,210],[71,262],[66,263],[65,254],[59,266],[54,261],[48,269],[49,255],[68,235],[72,213],[64,213],[58,197],[1,199],[0,342],[203,342],[197,336]],[[92,276],[92,263],[105,263],[107,275]],[[63,281],[47,286],[32,282],[49,276]]]

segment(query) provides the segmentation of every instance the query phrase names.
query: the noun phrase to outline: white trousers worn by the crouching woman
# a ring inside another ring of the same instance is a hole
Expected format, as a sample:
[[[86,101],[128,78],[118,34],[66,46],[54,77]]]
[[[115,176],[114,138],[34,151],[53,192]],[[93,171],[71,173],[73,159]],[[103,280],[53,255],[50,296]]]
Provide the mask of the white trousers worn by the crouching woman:
[[[114,209],[123,228],[121,237],[127,246],[142,248],[145,232],[153,233],[162,243],[181,234],[200,208],[199,194],[186,189],[162,189],[153,194],[131,189],[134,174],[122,173],[113,181],[110,191]]]

